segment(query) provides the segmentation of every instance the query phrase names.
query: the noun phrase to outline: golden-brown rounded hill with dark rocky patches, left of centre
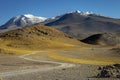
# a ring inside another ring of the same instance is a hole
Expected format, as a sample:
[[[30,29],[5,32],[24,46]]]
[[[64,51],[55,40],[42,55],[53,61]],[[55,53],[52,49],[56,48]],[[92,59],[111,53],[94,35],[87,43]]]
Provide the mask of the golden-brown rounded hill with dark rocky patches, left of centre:
[[[38,24],[0,34],[0,42],[2,49],[24,50],[65,49],[84,45],[61,31]]]

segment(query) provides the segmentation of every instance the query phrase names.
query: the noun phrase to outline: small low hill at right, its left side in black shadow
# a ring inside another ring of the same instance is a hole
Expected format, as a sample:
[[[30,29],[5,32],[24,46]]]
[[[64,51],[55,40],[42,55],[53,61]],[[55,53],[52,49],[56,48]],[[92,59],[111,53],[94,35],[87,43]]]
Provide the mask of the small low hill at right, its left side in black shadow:
[[[88,44],[96,45],[119,45],[120,36],[112,33],[95,34],[81,41]]]

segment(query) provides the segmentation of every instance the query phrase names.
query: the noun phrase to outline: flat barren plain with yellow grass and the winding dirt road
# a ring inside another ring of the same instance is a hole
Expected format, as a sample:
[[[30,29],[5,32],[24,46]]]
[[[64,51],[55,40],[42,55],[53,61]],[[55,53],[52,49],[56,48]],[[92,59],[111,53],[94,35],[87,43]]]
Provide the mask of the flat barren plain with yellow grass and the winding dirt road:
[[[57,50],[22,57],[3,56],[0,57],[0,77],[3,80],[119,80],[95,78],[99,66],[120,63],[119,56],[112,57],[109,49]]]

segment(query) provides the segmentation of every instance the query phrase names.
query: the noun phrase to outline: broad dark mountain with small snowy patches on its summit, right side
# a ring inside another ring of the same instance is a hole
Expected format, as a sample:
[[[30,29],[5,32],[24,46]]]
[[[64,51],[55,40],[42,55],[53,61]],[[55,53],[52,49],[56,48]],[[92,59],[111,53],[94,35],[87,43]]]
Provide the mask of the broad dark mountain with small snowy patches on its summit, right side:
[[[75,11],[44,22],[73,37],[85,38],[98,33],[120,32],[120,19],[109,18],[90,12]]]

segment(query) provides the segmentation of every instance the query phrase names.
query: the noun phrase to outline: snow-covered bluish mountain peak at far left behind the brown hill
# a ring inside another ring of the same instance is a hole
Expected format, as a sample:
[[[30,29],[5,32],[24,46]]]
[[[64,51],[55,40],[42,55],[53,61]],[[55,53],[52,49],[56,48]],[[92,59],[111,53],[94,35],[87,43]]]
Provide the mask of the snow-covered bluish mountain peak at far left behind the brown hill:
[[[27,25],[36,24],[45,21],[47,18],[38,17],[31,14],[19,15],[11,18],[0,29],[21,28]]]

